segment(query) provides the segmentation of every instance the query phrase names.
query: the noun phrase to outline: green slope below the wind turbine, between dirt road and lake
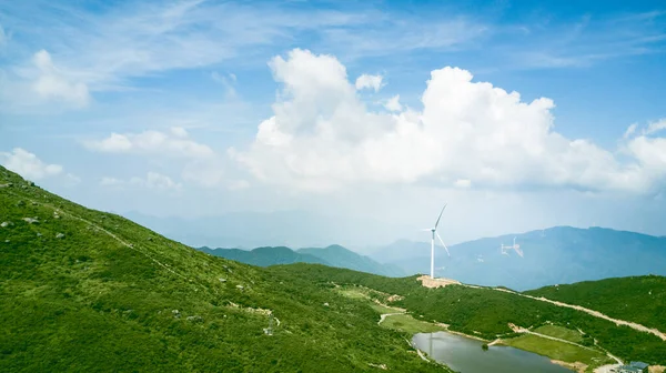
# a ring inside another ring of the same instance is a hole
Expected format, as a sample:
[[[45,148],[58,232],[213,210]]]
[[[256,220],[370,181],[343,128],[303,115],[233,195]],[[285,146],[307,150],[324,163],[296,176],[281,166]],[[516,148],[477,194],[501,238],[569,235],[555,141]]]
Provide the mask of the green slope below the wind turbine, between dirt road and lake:
[[[488,341],[517,336],[508,323],[533,329],[553,323],[571,330],[581,329],[596,339],[601,347],[624,360],[666,363],[666,343],[657,336],[517,294],[456,285],[426,289],[421,286],[416,276],[390,279],[353,271],[332,271],[322,265],[281,265],[272,268],[272,272],[281,275],[290,273],[321,283],[359,284],[398,294],[403,299],[392,304],[407,309],[415,319],[450,324],[453,331]]]

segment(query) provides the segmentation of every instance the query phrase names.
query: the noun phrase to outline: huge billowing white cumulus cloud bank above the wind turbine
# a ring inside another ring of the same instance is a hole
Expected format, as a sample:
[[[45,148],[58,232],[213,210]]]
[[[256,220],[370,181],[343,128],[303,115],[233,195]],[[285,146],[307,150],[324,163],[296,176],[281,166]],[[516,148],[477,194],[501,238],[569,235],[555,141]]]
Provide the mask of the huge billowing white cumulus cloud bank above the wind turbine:
[[[230,154],[258,179],[311,190],[355,182],[444,188],[567,188],[645,192],[664,177],[665,139],[628,140],[620,162],[554,131],[554,102],[524,102],[457,68],[431,72],[423,110],[370,111],[345,67],[293,50],[270,63],[283,84],[249,149]],[[655,124],[653,130],[659,128]]]

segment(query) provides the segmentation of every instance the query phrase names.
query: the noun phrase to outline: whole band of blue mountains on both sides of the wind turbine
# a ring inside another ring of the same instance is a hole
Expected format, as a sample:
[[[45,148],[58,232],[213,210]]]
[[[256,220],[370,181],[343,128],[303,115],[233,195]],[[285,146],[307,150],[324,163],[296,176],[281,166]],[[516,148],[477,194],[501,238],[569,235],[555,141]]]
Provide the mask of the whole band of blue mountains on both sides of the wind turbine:
[[[502,244],[521,245],[524,256]],[[362,272],[404,276],[430,271],[430,243],[400,240],[366,255],[340,245],[292,250],[285,246],[201,250],[253,265],[320,263]],[[518,291],[615,276],[666,274],[666,238],[603,228],[555,226],[485,238],[435,249],[435,274],[464,283]]]

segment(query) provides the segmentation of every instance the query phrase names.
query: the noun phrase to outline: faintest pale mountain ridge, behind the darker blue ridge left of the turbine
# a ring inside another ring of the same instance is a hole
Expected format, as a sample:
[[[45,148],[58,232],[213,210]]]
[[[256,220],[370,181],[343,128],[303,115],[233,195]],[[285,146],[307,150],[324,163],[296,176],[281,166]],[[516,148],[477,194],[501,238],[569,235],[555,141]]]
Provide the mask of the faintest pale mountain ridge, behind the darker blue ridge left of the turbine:
[[[397,236],[411,231],[363,216],[325,215],[301,210],[230,212],[192,219],[158,218],[139,212],[122,215],[194,248],[323,248],[332,242],[362,248],[383,242],[387,231]]]

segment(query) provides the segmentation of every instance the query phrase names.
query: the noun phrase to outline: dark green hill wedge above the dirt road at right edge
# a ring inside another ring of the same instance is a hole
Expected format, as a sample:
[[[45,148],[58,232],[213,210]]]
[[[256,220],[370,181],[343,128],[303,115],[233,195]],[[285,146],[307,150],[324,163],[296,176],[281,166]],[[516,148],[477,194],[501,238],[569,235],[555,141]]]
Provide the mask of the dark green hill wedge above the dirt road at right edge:
[[[658,275],[585,281],[525,292],[599,311],[666,332],[666,278]]]

